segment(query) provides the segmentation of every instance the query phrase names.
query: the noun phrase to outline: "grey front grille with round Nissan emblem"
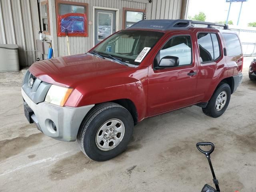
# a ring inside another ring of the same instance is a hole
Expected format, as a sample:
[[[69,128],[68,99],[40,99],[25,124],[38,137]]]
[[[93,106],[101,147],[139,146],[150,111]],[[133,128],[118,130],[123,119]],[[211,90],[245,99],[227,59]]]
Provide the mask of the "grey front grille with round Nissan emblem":
[[[36,104],[43,102],[51,84],[36,78],[29,70],[24,75],[22,89]]]

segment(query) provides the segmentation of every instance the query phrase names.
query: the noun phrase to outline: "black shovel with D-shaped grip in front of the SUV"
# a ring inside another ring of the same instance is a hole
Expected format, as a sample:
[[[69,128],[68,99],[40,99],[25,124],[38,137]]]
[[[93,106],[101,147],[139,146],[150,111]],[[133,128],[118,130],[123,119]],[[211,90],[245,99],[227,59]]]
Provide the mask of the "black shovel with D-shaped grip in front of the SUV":
[[[211,146],[212,148],[209,151],[204,151],[200,148],[200,146]],[[220,192],[220,188],[219,188],[219,182],[216,179],[213,167],[212,167],[212,162],[211,162],[211,158],[210,158],[210,154],[214,151],[214,144],[211,142],[200,142],[196,144],[196,148],[202,152],[203,154],[205,154],[206,158],[208,159],[209,165],[210,165],[210,169],[212,171],[212,176],[213,176],[213,182],[216,186],[216,189],[214,189],[212,186],[205,184],[204,187],[202,188],[201,192]]]

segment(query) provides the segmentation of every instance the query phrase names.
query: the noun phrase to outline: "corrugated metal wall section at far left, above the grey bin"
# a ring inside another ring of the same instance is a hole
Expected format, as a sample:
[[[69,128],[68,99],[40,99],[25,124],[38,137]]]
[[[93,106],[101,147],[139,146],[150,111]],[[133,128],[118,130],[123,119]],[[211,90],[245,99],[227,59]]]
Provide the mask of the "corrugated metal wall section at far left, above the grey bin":
[[[37,0],[0,0],[0,44],[17,44],[20,66],[36,61]]]

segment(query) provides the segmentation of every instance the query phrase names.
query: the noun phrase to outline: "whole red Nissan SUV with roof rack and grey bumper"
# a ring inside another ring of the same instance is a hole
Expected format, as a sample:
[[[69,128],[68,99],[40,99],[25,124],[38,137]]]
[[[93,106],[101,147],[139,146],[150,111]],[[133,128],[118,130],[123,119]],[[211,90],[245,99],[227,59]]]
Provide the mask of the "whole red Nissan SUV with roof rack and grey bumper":
[[[242,65],[240,40],[227,25],[142,20],[86,54],[34,63],[22,84],[24,111],[47,136],[77,140],[104,161],[126,149],[144,118],[191,105],[221,116]]]

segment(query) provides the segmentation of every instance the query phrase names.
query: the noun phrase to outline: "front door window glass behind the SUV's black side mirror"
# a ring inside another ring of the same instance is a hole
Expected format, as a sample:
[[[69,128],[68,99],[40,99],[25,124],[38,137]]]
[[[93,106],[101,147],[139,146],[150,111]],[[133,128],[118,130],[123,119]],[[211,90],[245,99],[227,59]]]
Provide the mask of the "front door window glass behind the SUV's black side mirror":
[[[191,64],[191,39],[190,36],[176,36],[168,40],[160,50],[160,60],[165,56],[176,56],[179,58],[179,66]]]

